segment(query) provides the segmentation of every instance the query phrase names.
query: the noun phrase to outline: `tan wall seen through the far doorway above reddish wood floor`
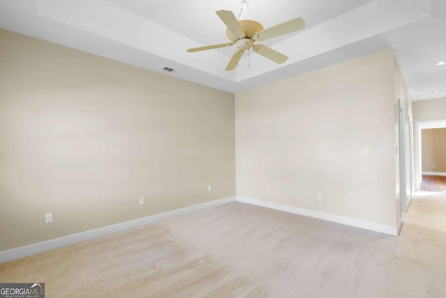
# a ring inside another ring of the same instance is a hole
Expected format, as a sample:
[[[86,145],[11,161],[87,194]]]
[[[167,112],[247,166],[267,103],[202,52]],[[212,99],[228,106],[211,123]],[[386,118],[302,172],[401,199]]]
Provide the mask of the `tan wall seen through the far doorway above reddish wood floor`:
[[[423,172],[446,172],[446,128],[423,129],[421,140]]]

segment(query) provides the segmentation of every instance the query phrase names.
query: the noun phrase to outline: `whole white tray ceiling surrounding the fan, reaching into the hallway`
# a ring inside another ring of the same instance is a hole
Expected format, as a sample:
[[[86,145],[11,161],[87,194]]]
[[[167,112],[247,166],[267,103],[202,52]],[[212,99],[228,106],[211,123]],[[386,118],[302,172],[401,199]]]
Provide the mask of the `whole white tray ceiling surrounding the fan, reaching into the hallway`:
[[[446,96],[446,66],[435,65],[446,60],[444,0],[250,0],[249,8],[265,28],[307,21],[262,42],[289,56],[285,64],[245,53],[225,72],[234,47],[185,51],[228,42],[215,11],[238,16],[240,0],[0,0],[0,27],[157,72],[169,66],[169,75],[233,93],[393,47],[413,100]]]

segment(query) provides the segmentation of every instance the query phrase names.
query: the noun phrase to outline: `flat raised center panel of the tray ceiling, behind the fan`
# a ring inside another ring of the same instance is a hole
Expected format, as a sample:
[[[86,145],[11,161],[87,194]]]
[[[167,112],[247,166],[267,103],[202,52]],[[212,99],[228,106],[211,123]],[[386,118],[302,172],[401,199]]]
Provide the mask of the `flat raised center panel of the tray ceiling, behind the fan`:
[[[226,27],[215,11],[232,10],[236,17],[240,12],[240,0],[107,1],[203,45],[227,41],[224,36]],[[311,28],[368,2],[371,0],[248,0],[249,10],[255,20],[265,28],[295,17],[303,17],[307,21],[307,28]],[[244,12],[240,18],[249,18],[249,13]]]

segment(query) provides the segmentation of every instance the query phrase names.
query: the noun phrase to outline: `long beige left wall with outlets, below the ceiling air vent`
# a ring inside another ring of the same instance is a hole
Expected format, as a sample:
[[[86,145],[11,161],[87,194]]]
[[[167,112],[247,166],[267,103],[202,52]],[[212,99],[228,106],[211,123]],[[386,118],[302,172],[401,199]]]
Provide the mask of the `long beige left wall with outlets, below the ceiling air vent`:
[[[236,194],[233,94],[9,31],[0,49],[0,251]]]

